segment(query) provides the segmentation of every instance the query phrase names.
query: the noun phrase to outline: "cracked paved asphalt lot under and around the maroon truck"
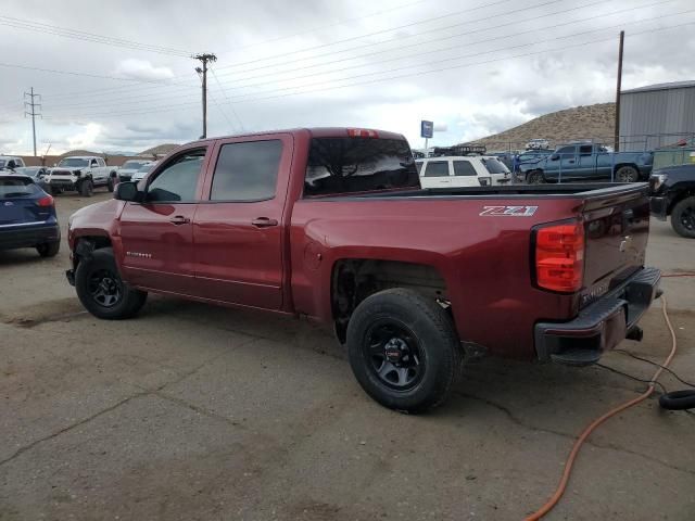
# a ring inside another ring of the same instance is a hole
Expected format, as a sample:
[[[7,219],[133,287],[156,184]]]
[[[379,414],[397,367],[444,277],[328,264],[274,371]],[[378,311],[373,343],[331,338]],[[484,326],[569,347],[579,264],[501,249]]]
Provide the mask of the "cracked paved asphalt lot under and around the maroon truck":
[[[63,227],[108,196],[59,195]],[[653,223],[650,264],[692,270],[694,251]],[[555,490],[580,430],[643,389],[596,367],[486,359],[446,406],[404,416],[306,322],[162,297],[100,321],[64,279],[67,255],[0,252],[1,520],[518,520]],[[692,381],[695,280],[662,287],[673,368]],[[643,326],[622,346],[661,359],[658,304]],[[591,437],[546,519],[693,520],[694,447],[695,416],[648,399]]]

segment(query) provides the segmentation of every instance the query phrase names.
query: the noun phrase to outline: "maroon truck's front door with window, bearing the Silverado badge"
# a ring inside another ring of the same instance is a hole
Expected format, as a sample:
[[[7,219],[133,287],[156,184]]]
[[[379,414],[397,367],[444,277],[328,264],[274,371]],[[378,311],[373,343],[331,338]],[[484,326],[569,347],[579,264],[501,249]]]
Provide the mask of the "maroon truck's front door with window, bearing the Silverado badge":
[[[205,149],[191,149],[153,173],[142,203],[121,215],[122,266],[132,284],[172,293],[193,292],[193,217]]]

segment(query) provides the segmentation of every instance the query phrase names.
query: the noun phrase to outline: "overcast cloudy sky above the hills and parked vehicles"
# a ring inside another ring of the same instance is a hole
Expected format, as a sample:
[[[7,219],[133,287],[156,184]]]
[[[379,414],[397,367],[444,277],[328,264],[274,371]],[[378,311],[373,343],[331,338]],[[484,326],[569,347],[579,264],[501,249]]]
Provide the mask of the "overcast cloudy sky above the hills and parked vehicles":
[[[0,152],[141,151],[201,134],[193,53],[214,52],[208,136],[298,126],[484,137],[623,88],[695,79],[693,0],[3,0]],[[38,100],[37,100],[38,102]]]

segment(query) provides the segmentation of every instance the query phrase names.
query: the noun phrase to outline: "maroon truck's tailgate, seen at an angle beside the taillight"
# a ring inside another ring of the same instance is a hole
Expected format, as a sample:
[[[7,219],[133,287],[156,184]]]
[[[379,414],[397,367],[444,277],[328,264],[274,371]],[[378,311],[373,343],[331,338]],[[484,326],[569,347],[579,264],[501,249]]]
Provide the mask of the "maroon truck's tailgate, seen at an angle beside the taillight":
[[[589,198],[583,207],[584,307],[644,266],[649,232],[648,187]]]

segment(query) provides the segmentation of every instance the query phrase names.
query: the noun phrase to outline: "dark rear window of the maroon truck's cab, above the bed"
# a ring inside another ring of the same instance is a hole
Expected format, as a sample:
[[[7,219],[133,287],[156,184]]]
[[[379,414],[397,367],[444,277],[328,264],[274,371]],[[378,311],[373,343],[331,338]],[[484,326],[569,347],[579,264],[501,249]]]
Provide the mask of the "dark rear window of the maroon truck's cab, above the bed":
[[[420,188],[407,141],[374,138],[314,138],[304,195]]]

